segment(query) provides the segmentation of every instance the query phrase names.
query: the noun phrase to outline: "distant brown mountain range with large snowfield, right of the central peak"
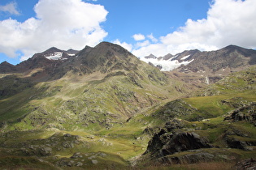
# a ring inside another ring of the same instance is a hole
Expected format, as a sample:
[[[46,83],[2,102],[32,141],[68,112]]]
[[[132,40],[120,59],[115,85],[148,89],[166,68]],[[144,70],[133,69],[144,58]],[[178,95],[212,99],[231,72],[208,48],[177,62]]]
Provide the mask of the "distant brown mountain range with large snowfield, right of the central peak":
[[[210,52],[201,52],[197,49],[184,51],[164,57],[141,57],[144,62],[150,62],[158,66],[160,70],[179,70],[180,72],[208,72],[209,74],[229,74],[235,70],[241,70],[244,66],[256,64],[256,51],[244,49],[236,45],[228,45],[223,49]]]

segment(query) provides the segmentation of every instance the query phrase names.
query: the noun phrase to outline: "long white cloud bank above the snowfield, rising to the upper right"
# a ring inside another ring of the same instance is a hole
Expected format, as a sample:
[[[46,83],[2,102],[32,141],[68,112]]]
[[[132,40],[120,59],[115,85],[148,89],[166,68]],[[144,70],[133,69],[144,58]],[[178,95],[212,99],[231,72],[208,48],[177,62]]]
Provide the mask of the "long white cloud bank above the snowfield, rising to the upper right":
[[[255,6],[255,0],[215,0],[210,4],[206,19],[188,19],[184,27],[161,36],[158,44],[133,49],[132,53],[143,57],[152,52],[161,56],[163,52],[210,51],[227,45],[256,48]]]

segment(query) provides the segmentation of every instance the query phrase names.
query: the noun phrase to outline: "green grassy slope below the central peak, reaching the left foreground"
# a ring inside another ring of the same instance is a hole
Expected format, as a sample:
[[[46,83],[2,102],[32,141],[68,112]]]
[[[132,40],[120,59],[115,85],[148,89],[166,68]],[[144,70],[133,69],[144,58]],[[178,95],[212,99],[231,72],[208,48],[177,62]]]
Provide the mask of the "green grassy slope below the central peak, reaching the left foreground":
[[[183,95],[175,89],[181,83],[168,82],[158,70],[147,67],[87,76],[69,72],[63,79],[37,83],[0,100],[2,168],[52,168],[60,160],[73,160],[76,152],[83,154],[76,160],[83,168],[128,167],[128,159],[141,155],[148,141],[137,140],[142,125],[126,123],[128,118],[168,96]],[[80,136],[72,148],[63,147],[67,133]],[[51,146],[53,136],[59,138],[60,150]],[[40,148],[47,146],[51,155],[41,157]],[[106,157],[99,156],[101,152]],[[41,164],[33,155],[41,157]],[[92,156],[98,164],[93,164]]]

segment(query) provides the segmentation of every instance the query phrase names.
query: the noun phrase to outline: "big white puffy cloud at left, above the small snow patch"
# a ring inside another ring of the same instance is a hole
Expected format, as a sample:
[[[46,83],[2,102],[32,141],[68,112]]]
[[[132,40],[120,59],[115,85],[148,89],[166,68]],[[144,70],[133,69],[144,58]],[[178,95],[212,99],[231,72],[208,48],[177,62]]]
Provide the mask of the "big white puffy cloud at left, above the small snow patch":
[[[15,19],[0,21],[0,53],[21,60],[52,46],[59,49],[83,49],[97,45],[107,32],[100,23],[106,21],[104,6],[81,0],[40,0],[34,11],[37,16],[23,23]]]

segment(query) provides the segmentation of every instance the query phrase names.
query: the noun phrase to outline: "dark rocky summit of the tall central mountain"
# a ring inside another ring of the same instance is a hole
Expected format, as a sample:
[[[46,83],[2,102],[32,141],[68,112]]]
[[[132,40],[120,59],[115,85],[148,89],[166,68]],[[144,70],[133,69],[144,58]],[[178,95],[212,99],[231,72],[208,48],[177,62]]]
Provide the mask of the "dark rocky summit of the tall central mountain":
[[[120,45],[102,42],[94,48],[86,46],[76,54],[76,67],[83,72],[129,70],[140,62],[137,57]]]

